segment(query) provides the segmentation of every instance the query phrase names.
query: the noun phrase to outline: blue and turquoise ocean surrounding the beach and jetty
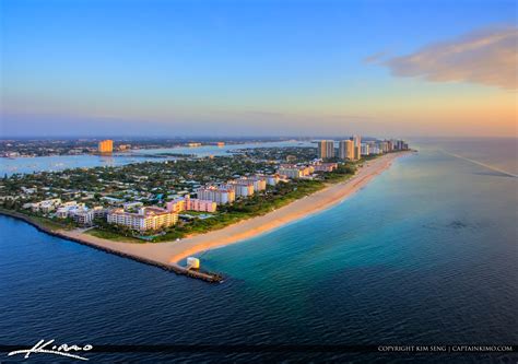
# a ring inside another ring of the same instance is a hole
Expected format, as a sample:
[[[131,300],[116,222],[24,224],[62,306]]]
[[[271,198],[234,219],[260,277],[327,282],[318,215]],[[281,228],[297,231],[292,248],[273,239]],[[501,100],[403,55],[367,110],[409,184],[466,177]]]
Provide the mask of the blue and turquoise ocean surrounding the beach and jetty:
[[[518,179],[447,154],[440,142],[417,148],[332,209],[201,254],[202,266],[226,275],[217,285],[0,216],[0,344],[91,343],[85,356],[106,363],[516,363],[513,353],[95,352],[102,344],[517,344]]]

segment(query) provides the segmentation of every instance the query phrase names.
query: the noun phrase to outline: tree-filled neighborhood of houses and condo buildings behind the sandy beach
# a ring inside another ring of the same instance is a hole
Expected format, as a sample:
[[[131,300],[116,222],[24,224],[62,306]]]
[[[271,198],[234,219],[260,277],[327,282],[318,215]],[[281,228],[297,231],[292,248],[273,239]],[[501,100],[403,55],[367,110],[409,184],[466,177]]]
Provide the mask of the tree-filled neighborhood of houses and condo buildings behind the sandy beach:
[[[375,155],[341,153],[349,142],[340,141],[338,153],[334,141],[322,140],[316,150],[264,148],[228,156],[13,174],[0,183],[0,203],[103,237],[180,238],[266,213],[332,179],[346,178],[361,158],[375,157],[388,145],[381,141],[380,148],[372,148]],[[111,145],[103,143],[105,149]],[[360,137],[351,143],[353,151],[368,145],[360,144]]]

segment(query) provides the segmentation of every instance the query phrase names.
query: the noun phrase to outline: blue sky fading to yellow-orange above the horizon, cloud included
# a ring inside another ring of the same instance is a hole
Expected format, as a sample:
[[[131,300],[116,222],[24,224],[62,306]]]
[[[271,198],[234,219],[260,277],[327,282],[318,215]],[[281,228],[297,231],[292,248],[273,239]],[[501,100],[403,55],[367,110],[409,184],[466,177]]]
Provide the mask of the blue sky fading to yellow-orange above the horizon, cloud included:
[[[0,134],[517,137],[514,0],[0,0]]]

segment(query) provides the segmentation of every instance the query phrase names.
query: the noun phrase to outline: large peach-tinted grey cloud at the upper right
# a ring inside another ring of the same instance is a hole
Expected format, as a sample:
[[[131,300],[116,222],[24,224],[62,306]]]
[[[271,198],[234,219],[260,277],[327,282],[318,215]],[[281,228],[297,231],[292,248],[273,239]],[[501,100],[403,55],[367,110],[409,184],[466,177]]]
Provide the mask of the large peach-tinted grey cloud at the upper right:
[[[379,57],[378,57],[379,58]],[[393,75],[518,89],[518,28],[472,32],[451,42],[385,60]]]

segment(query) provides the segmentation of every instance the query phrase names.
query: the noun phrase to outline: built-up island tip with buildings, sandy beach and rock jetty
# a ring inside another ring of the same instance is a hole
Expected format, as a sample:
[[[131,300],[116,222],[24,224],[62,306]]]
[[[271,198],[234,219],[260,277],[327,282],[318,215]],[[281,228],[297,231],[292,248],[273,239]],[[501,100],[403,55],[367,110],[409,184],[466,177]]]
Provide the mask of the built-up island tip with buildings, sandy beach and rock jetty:
[[[322,155],[321,145],[252,149],[229,156],[4,176],[0,212],[48,234],[221,281],[181,262],[343,201],[408,152],[407,144],[400,145],[364,155],[358,149],[356,157],[354,152],[343,157],[340,146],[338,155]]]

